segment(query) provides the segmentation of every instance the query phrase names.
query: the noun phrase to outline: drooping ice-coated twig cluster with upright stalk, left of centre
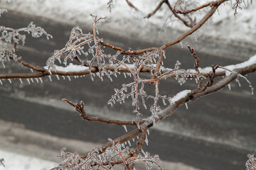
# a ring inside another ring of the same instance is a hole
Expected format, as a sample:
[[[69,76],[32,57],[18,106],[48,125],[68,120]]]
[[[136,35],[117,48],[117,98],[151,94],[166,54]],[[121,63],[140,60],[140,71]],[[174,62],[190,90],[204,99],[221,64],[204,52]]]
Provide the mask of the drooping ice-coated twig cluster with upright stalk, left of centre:
[[[91,15],[92,16],[92,15]],[[99,70],[99,77],[102,79],[104,75],[110,78],[110,73],[107,72],[105,69],[105,64],[107,60],[110,60],[110,63],[113,63],[110,59],[111,55],[106,55],[102,47],[100,46],[100,42],[102,42],[101,38],[98,38],[98,30],[97,30],[97,23],[101,20],[108,21],[108,18],[97,18],[97,16],[92,16],[94,23],[93,23],[93,33],[83,33],[82,29],[78,26],[74,27],[71,30],[70,38],[68,42],[66,42],[65,47],[61,50],[55,50],[53,56],[49,57],[46,61],[46,68],[50,71],[56,70],[55,60],[58,60],[60,63],[67,65],[68,60],[73,62],[77,60],[82,65],[88,66],[90,71],[90,77],[92,78],[92,64],[97,65],[97,69]],[[91,55],[91,58],[89,57]],[[81,58],[84,55],[86,62]],[[61,61],[61,58],[63,62]],[[93,66],[94,67],[94,66]]]

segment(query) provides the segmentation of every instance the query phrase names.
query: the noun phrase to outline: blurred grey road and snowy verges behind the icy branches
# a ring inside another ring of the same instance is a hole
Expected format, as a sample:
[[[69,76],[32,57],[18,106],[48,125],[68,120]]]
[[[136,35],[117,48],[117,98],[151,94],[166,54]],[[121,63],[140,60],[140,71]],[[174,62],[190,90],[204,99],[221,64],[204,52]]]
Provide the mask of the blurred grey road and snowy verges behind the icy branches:
[[[134,2],[147,13],[157,1],[149,1],[144,6],[142,2],[137,3]],[[178,60],[182,69],[193,68],[194,59],[187,45],[196,50],[200,67],[237,64],[255,55],[256,22],[251,19],[256,14],[255,4],[245,6],[240,11],[242,17],[238,15],[236,21],[235,18],[230,21],[233,11],[230,3],[227,4],[223,11],[220,8],[219,16],[215,14],[213,21],[206,23],[206,28],[166,50],[165,67],[173,68]],[[84,33],[92,33],[90,13],[110,17],[109,23],[98,26],[99,37],[126,50],[129,47],[132,50],[159,47],[188,30],[176,21],[166,22],[165,17],[171,17],[171,13],[164,6],[156,16],[145,20],[144,13],[134,12],[125,1],[114,2],[112,13],[107,9],[107,1],[26,0],[1,1],[0,5],[8,9],[0,17],[1,26],[23,28],[33,21],[53,35],[52,40],[27,35],[25,46],[18,46],[18,55],[23,60],[41,67],[46,65],[54,50],[65,46],[74,26],[80,26]],[[200,15],[198,17],[197,21]],[[107,48],[104,50],[114,53]],[[4,64],[6,68],[0,66],[0,74],[31,72],[15,62]],[[124,135],[124,128],[117,125],[85,122],[62,98],[75,103],[84,101],[89,115],[134,120],[136,115],[131,100],[107,105],[114,88],[119,89],[123,83],[132,81],[128,75],[126,77],[121,74],[113,81],[107,77],[104,81],[97,78],[92,81],[89,76],[70,77],[69,81],[67,77],[58,80],[52,76],[52,81],[44,77],[43,83],[33,79],[30,84],[25,79],[22,83],[18,79],[2,80],[0,158],[5,159],[6,168],[0,166],[0,169],[50,169],[60,162],[53,157],[63,147],[69,152],[83,154],[107,142],[109,137]],[[255,86],[255,73],[247,79]],[[165,169],[245,169],[247,154],[256,153],[256,98],[245,80],[240,79],[240,84],[241,87],[233,82],[230,89],[225,87],[216,94],[188,102],[188,109],[181,106],[149,130],[149,145],[144,145],[144,151],[159,154]],[[180,86],[175,79],[167,79],[161,82],[160,91],[174,96],[178,91],[196,87],[194,80]],[[144,111],[144,116],[147,115],[149,111]]]

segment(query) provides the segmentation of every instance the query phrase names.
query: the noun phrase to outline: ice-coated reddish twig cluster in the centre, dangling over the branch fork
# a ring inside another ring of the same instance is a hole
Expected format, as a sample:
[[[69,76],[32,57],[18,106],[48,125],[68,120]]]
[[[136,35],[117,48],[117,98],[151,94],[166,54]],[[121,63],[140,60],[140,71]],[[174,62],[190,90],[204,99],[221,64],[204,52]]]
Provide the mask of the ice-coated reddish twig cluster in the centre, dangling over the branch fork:
[[[132,106],[135,106],[134,113],[137,113],[137,123],[139,122],[140,115],[142,115],[139,111],[140,105],[146,106],[146,99],[153,99],[154,103],[149,108],[151,115],[154,118],[158,118],[157,113],[161,111],[159,106],[159,99],[166,105],[166,101],[170,101],[169,97],[166,95],[159,94],[159,84],[162,79],[166,79],[168,77],[174,77],[178,84],[186,83],[186,79],[188,77],[196,77],[199,79],[201,77],[198,73],[188,72],[184,69],[179,69],[181,62],[176,62],[174,65],[174,69],[169,69],[168,72],[161,72],[160,69],[156,67],[156,62],[159,60],[159,57],[164,56],[163,50],[154,50],[151,52],[145,52],[144,55],[139,56],[137,59],[134,60],[134,64],[127,64],[127,58],[123,57],[122,61],[117,61],[119,64],[116,64],[117,69],[127,68],[129,70],[129,74],[132,75],[133,81],[128,84],[122,84],[121,89],[114,89],[114,95],[108,101],[108,104],[111,106],[114,103],[124,103],[125,99],[132,98]],[[116,59],[113,59],[116,60]],[[152,74],[154,75],[155,79],[143,79],[141,78],[139,72],[142,68],[149,68],[151,69]],[[124,74],[125,75],[125,74]],[[155,86],[155,94],[149,95],[146,93],[144,87],[152,84]],[[171,101],[170,101],[171,102]]]

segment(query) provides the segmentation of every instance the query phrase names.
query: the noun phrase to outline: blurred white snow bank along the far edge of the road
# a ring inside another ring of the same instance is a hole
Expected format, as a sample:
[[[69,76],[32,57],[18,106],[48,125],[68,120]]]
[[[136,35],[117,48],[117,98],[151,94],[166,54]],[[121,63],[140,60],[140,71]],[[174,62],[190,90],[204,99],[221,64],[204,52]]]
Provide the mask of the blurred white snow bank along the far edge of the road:
[[[88,23],[92,23],[91,13],[99,17],[107,16],[111,21],[109,23],[100,23],[100,29],[115,30],[114,33],[119,35],[125,35],[127,37],[139,36],[139,38],[146,38],[146,40],[151,37],[151,30],[166,30],[168,28],[184,32],[189,29],[171,15],[166,5],[161,6],[160,10],[154,16],[151,16],[151,18],[144,19],[147,13],[154,11],[154,8],[159,4],[159,0],[131,1],[142,12],[134,11],[133,8],[127,5],[126,1],[114,1],[112,12],[110,13],[107,8],[108,0],[15,0],[10,4],[1,1],[0,5],[1,8],[7,8],[32,16],[50,18],[72,25],[79,24],[85,26],[84,23],[86,23],[87,28],[92,26],[91,24],[88,25]],[[206,2],[208,1],[196,1],[196,6],[200,6]],[[174,4],[175,1],[171,2],[171,5],[174,6]],[[234,17],[234,9],[230,5],[230,2],[225,2],[225,4],[222,4],[218,8],[218,12],[213,15],[213,18],[203,28],[196,31],[193,36],[199,37],[206,35],[230,40],[231,42],[235,40],[255,44],[256,17],[254,16],[256,15],[256,4],[254,1],[252,4],[250,4],[250,1],[245,1],[245,3],[241,4],[241,7],[242,10],[238,8],[238,14]],[[191,17],[196,17],[196,21],[199,21],[208,10],[210,10],[210,7],[201,12],[191,13]],[[169,35],[167,36],[166,33],[164,33],[164,41],[166,38],[170,40]]]

